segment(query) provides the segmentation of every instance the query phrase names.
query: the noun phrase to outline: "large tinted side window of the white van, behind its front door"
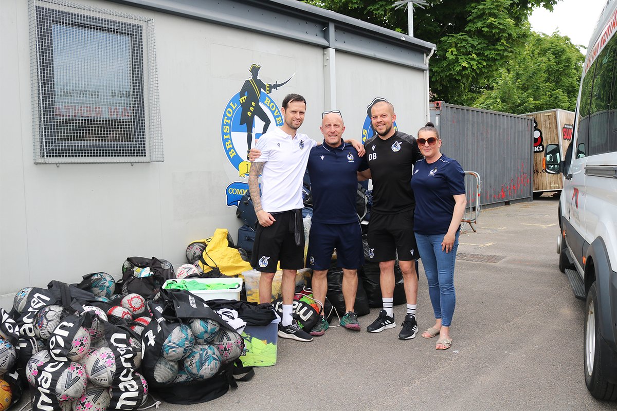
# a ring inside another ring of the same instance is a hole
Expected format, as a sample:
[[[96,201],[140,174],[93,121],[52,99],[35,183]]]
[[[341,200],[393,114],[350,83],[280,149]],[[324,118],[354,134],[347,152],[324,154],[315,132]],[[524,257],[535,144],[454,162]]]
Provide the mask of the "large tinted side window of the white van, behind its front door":
[[[615,140],[613,113],[615,113],[615,56],[617,36],[608,41],[607,46],[597,57],[594,85],[589,109],[589,140],[587,155],[606,153],[614,150]],[[612,142],[612,144],[611,144]],[[612,149],[611,149],[611,146]]]

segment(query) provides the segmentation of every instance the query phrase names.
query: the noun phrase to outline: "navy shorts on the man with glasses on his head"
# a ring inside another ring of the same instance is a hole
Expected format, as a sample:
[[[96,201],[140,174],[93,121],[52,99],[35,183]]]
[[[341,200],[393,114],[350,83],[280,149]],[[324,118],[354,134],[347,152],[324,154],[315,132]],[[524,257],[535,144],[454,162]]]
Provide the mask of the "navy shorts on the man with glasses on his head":
[[[332,266],[332,252],[336,248],[338,266],[357,270],[364,264],[362,229],[359,222],[325,224],[313,222],[310,226],[307,267],[327,270]]]

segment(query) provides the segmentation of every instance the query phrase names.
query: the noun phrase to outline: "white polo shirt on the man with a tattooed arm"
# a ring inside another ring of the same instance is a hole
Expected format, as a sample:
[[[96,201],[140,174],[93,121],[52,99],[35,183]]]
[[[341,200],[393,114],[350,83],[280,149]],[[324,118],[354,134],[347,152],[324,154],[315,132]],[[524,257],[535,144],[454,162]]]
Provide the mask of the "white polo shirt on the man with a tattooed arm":
[[[265,163],[262,172],[263,210],[278,213],[304,207],[304,171],[310,149],[317,144],[306,134],[296,133],[292,138],[278,127],[259,137],[255,148],[262,154],[255,162]]]

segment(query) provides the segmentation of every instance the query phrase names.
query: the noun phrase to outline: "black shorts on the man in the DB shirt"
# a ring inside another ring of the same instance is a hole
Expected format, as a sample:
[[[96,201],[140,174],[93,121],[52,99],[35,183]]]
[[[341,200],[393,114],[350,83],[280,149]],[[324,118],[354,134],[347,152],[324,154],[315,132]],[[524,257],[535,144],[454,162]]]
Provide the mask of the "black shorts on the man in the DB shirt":
[[[413,210],[397,214],[371,213],[366,241],[368,255],[373,261],[391,261],[396,259],[397,253],[400,261],[420,258],[413,232]]]

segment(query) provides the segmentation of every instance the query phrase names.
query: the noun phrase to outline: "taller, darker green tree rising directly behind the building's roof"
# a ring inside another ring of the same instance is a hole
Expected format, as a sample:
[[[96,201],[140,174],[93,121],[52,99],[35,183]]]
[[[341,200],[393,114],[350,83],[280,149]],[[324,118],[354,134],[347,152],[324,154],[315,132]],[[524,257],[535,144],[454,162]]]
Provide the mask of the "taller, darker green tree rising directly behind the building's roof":
[[[400,32],[407,12],[393,0],[304,0]],[[414,10],[414,36],[437,45],[431,91],[437,99],[471,105],[523,44],[534,7],[552,10],[558,0],[428,0]]]

